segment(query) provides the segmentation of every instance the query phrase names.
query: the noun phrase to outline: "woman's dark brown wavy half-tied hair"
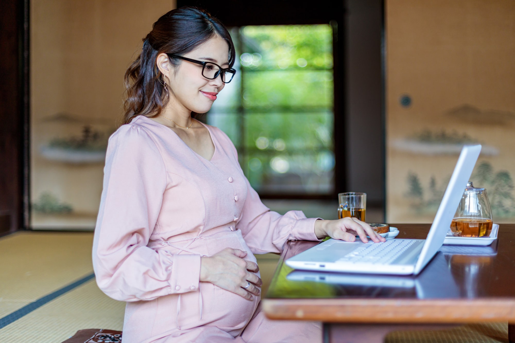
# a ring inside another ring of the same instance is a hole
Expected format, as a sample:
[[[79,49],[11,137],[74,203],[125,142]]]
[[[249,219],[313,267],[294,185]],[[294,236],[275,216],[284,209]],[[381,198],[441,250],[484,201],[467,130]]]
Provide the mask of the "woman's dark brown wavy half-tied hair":
[[[218,19],[196,7],[181,7],[162,15],[143,39],[140,56],[125,72],[123,123],[129,123],[138,115],[158,116],[166,106],[168,97],[156,63],[159,54],[182,56],[215,36],[225,39],[229,44],[229,67],[232,67],[234,44],[229,31]],[[173,66],[180,63],[179,59],[169,60]]]

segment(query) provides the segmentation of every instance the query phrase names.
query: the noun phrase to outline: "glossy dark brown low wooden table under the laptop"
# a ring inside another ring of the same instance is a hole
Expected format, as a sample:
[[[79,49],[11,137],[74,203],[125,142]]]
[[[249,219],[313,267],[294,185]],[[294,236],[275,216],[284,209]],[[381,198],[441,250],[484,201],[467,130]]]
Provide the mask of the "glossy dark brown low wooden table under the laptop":
[[[398,238],[425,238],[430,228],[392,226],[399,228]],[[328,283],[320,273],[317,281],[288,279],[293,269],[284,261],[318,244],[290,241],[263,310],[271,319],[322,321],[328,342],[382,342],[390,331],[507,321],[515,343],[515,224],[502,224],[498,237],[475,252],[443,246],[417,277],[389,277],[392,282],[377,286]]]

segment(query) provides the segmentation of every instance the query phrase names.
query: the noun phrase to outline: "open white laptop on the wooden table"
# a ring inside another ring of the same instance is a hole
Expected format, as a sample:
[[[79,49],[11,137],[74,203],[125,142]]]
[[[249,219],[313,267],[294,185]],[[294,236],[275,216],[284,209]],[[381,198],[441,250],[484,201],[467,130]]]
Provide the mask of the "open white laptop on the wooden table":
[[[417,275],[442,246],[480,151],[480,145],[466,145],[461,149],[426,239],[395,238],[382,243],[329,239],[285,263],[302,270]]]

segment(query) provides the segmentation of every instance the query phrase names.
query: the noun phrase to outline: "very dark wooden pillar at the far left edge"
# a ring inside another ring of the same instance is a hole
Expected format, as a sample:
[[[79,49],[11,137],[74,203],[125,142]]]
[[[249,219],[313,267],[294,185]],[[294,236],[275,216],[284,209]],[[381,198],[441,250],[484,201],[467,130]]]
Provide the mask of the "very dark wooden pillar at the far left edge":
[[[28,0],[0,2],[0,235],[26,228]]]

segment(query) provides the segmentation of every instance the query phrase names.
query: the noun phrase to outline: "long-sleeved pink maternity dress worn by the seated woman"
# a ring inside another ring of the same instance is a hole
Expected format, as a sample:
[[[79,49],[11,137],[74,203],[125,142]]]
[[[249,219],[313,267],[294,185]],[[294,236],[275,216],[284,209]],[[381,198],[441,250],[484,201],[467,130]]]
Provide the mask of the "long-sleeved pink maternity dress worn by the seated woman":
[[[93,266],[100,289],[127,302],[124,343],[321,341],[319,323],[268,320],[260,297],[199,282],[200,256],[231,247],[256,262],[288,239],[317,240],[317,218],[269,211],[228,136],[205,126],[211,161],[144,116],[109,139]]]

